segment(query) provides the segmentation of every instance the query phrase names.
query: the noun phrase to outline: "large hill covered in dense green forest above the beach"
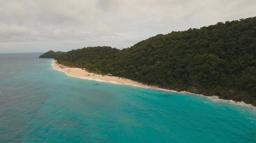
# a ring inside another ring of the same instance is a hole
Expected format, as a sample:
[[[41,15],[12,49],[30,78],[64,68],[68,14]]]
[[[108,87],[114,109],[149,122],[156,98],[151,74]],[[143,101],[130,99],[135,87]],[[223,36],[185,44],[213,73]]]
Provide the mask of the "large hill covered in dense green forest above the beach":
[[[69,51],[59,63],[256,105],[256,17],[156,35],[125,49]]]

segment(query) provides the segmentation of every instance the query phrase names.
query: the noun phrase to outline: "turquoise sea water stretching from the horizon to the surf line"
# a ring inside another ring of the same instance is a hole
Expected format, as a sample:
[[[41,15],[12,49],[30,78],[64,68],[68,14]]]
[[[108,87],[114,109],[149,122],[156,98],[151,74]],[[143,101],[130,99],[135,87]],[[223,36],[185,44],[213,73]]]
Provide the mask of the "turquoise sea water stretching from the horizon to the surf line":
[[[71,77],[0,54],[0,142],[256,142],[256,110],[188,92]]]

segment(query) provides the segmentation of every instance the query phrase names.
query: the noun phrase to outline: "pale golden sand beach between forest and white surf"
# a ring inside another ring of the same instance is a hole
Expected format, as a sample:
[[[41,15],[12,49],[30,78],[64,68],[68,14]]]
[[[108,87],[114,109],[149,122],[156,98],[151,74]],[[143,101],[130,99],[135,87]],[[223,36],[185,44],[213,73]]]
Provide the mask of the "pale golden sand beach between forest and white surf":
[[[116,82],[124,85],[137,85],[137,86],[143,86],[147,88],[158,88],[158,86],[148,86],[139,82],[136,82],[134,80],[130,79],[125,79],[122,77],[117,77],[117,76],[107,76],[107,75],[102,75],[102,74],[95,74],[95,73],[89,73],[86,70],[80,69],[80,68],[75,68],[75,67],[65,67],[62,66],[61,64],[58,64],[56,60],[53,60],[53,67],[56,70],[62,70],[65,73],[68,73],[72,76],[77,76],[77,77],[87,77],[88,79],[95,79],[95,80],[102,80],[103,82]]]

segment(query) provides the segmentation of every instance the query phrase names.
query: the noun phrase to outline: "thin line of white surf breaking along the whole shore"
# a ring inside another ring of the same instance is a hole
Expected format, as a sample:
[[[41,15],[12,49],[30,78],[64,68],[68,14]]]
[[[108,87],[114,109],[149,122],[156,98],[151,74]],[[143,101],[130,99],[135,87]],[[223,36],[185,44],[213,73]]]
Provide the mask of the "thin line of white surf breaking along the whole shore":
[[[149,86],[133,85],[133,84],[130,84],[130,83],[119,83],[119,82],[115,82],[115,81],[106,81],[106,80],[102,80],[102,79],[93,79],[93,78],[91,78],[91,77],[78,77],[78,76],[73,76],[73,75],[67,73],[66,71],[56,69],[53,62],[54,62],[54,61],[52,61],[52,67],[53,67],[53,69],[58,70],[58,71],[62,71],[62,72],[64,72],[65,74],[67,74],[68,76],[77,77],[77,78],[79,78],[79,79],[94,80],[94,81],[97,81],[97,82],[113,83],[113,84],[116,84],[116,85],[135,86],[135,87],[146,88],[146,89],[149,89],[149,88],[150,88]],[[173,90],[164,89],[164,88],[150,88],[150,89],[156,89],[156,90],[160,90],[160,91],[167,91],[167,92],[173,92],[173,93],[185,94],[185,95],[196,95],[196,96],[200,96],[200,97],[207,97],[207,98],[209,98],[209,100],[211,100],[211,101],[213,101],[213,102],[226,102],[226,103],[228,103],[228,104],[240,105],[240,106],[242,106],[242,107],[251,108],[252,110],[256,111],[256,107],[254,107],[252,104],[246,104],[246,103],[243,102],[243,101],[223,100],[223,99],[219,98],[219,97],[216,96],[216,95],[213,95],[213,96],[206,96],[206,95],[203,95],[203,94],[194,94],[194,93],[188,92],[188,91],[180,91],[180,92],[179,92],[179,91],[173,91]],[[1,94],[1,92],[0,92],[0,94]]]

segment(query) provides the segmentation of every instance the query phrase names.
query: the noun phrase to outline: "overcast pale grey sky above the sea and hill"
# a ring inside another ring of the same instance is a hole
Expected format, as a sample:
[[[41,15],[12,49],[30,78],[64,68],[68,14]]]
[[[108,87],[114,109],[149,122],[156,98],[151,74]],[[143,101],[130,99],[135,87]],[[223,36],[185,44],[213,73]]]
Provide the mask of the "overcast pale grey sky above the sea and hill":
[[[255,0],[0,0],[0,53],[123,49],[160,33],[255,16]]]

